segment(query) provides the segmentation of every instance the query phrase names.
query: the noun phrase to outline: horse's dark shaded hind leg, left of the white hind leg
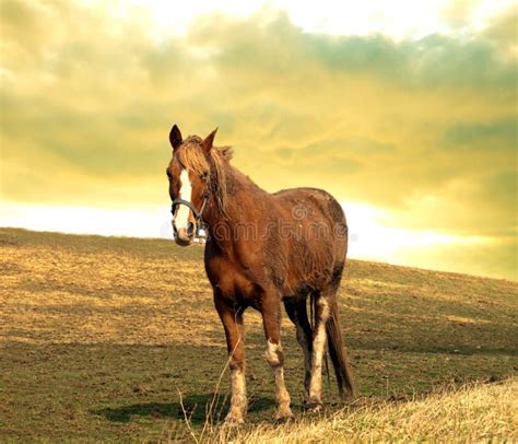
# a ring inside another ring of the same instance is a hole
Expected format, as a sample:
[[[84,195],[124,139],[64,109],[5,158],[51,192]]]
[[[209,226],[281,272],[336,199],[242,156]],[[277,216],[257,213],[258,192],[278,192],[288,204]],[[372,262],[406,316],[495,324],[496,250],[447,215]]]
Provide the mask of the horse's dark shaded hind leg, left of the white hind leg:
[[[311,381],[311,326],[307,318],[306,297],[285,299],[284,306],[287,316],[297,329],[297,341],[304,352],[304,388],[306,399],[309,396],[309,383]]]

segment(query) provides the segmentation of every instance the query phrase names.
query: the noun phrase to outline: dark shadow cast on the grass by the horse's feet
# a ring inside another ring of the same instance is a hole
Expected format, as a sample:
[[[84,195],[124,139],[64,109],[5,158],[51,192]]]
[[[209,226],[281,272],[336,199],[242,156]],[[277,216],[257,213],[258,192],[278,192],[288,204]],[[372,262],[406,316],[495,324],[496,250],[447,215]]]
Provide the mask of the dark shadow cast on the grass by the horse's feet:
[[[213,399],[215,399],[213,401]],[[212,407],[211,407],[211,402]],[[274,406],[273,399],[255,398],[250,399],[249,412],[268,410]],[[98,410],[91,410],[92,413],[105,417],[111,422],[130,422],[134,417],[148,418],[170,418],[184,420],[186,417],[192,424],[199,425],[205,422],[209,410],[211,410],[211,421],[219,422],[225,418],[228,411],[229,399],[227,397],[216,397],[214,394],[201,394],[186,396],[180,402],[141,402],[121,407],[107,407]]]

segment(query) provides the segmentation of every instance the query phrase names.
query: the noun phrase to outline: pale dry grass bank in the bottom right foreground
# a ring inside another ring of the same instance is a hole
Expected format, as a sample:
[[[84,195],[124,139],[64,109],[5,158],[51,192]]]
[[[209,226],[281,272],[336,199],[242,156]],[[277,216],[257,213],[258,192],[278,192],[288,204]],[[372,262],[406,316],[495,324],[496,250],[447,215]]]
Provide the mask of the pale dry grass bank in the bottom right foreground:
[[[518,379],[471,384],[426,398],[351,407],[320,419],[234,433],[217,430],[207,441],[234,443],[516,442]]]

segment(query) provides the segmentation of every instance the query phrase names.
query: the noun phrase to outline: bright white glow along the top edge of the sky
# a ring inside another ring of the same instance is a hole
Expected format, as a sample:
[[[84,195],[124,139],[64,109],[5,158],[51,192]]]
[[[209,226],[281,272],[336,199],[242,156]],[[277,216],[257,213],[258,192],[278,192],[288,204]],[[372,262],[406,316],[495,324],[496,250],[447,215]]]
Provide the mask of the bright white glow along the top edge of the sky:
[[[301,2],[295,0],[81,0],[86,5],[107,8],[114,16],[125,16],[131,11],[148,12],[155,30],[162,35],[185,34],[195,17],[220,13],[226,16],[248,17],[268,11],[281,11],[306,32],[332,35],[384,34],[396,39],[421,38],[434,33],[479,32],[497,12],[510,8],[511,0],[479,0],[451,2],[448,0],[392,0]]]

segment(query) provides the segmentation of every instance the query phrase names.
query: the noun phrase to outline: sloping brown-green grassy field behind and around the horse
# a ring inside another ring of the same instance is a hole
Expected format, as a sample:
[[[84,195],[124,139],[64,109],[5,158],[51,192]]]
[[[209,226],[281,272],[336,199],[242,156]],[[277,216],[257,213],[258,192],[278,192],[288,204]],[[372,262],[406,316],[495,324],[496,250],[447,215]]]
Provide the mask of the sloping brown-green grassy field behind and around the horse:
[[[193,433],[201,433],[226,363],[202,247],[0,229],[0,442],[189,440],[180,395]],[[362,411],[373,418],[402,404],[411,413],[411,406],[443,398],[475,399],[480,390],[491,399],[499,399],[498,390],[516,394],[516,383],[499,382],[518,369],[517,296],[511,281],[350,260],[340,313],[362,398],[348,414],[316,423],[331,433],[332,424],[352,424],[348,418],[366,421]],[[260,317],[249,311],[245,322],[251,401],[250,425],[240,433],[257,439],[272,433],[263,424],[274,411],[274,388]],[[301,424],[310,430],[313,420],[301,410],[303,360],[287,318],[282,340],[302,418],[283,429],[289,436]],[[493,384],[454,390],[472,382]],[[343,408],[335,392],[331,376],[327,416]],[[227,375],[219,393],[214,422],[225,411]],[[510,439],[508,418],[495,421],[505,427],[494,435]],[[343,436],[369,439],[348,427]]]

